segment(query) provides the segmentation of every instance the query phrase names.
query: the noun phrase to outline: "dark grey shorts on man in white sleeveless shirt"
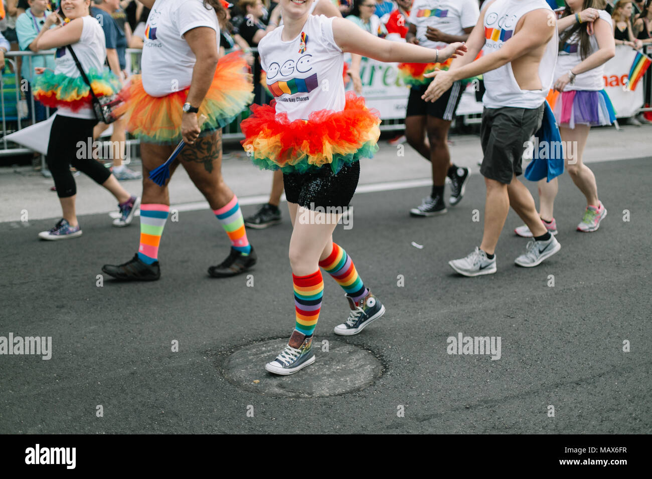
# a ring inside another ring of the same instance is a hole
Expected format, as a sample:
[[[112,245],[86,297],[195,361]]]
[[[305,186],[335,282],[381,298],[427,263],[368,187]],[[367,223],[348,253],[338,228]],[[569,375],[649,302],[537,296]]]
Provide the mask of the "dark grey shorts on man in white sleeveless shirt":
[[[541,128],[544,104],[539,108],[485,108],[482,111],[480,142],[482,176],[510,184],[523,174],[523,153],[527,142]]]

